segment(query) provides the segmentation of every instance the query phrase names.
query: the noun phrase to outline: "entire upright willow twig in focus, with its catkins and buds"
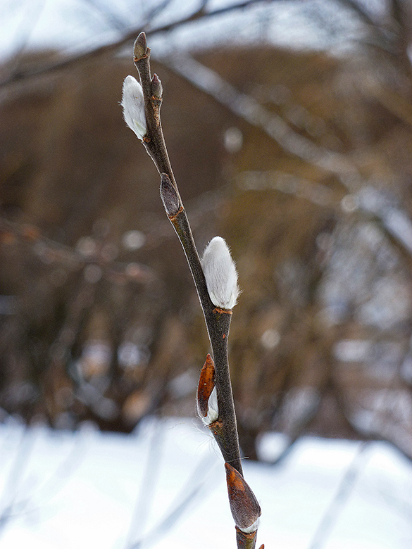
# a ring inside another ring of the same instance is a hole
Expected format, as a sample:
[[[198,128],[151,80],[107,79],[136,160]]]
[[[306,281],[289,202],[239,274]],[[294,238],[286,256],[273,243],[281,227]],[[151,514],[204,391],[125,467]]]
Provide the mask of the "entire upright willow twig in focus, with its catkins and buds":
[[[198,411],[204,424],[212,431],[225,459],[227,491],[235,520],[237,548],[254,549],[261,507],[243,478],[227,358],[232,308],[239,294],[235,263],[220,236],[215,236],[209,242],[202,259],[199,258],[163,137],[160,118],[163,88],[158,76],[151,76],[150,49],[144,32],[137,37],[133,53],[140,83],[132,76],[125,78],[123,115],[130,129],[142,140],[161,175],[163,206],[180,239],[192,272],[213,353],[213,358],[207,356],[201,370],[197,391]]]

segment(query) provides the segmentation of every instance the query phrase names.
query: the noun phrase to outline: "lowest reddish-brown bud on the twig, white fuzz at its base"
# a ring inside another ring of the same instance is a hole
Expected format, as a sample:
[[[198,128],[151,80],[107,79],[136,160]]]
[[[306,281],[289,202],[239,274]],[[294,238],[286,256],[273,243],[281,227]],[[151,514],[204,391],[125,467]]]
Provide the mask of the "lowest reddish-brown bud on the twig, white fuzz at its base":
[[[251,532],[258,529],[261,507],[249,484],[246,483],[237,469],[229,463],[225,463],[225,469],[232,517],[239,530],[242,530],[245,534],[251,534]]]

